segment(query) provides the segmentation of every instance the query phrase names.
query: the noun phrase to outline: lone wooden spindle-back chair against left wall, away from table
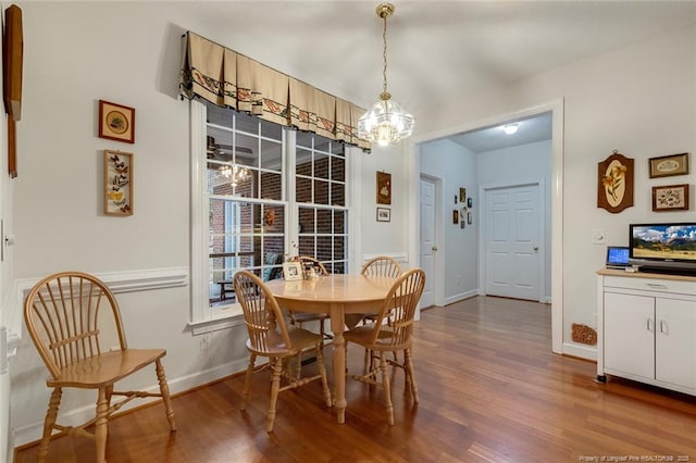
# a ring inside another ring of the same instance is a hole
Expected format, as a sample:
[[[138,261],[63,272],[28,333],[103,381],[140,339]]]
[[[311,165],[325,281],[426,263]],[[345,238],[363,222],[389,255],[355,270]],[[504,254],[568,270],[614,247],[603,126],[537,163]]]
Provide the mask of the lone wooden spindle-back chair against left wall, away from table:
[[[95,440],[96,461],[105,461],[108,421],[126,402],[161,397],[170,430],[176,430],[170,390],[164,376],[164,349],[129,349],[116,299],[103,281],[82,272],[61,272],[39,280],[24,301],[27,331],[50,376],[52,388],[44,423],[38,461],[48,454],[50,439],[70,434]],[[160,392],[115,391],[114,384],[154,365]],[[96,389],[96,416],[79,426],[57,423],[63,388]],[[123,396],[111,403],[113,396]],[[94,431],[86,428],[94,426]],[[53,434],[53,430],[59,430]]]

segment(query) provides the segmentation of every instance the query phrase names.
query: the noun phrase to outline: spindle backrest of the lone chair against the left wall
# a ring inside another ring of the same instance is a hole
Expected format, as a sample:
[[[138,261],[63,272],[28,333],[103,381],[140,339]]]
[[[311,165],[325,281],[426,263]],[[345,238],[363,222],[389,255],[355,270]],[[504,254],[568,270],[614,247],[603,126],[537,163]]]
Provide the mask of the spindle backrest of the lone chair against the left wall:
[[[24,300],[24,321],[53,378],[61,368],[115,342],[122,350],[127,347],[116,299],[103,281],[86,273],[61,272],[39,280]],[[113,330],[103,333],[107,327]]]

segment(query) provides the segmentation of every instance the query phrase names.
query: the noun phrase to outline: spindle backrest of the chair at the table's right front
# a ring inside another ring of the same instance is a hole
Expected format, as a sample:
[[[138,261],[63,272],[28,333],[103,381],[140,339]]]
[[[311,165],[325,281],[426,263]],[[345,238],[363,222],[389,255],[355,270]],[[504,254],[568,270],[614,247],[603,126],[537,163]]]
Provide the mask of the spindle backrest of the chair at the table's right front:
[[[394,350],[408,346],[424,287],[425,272],[422,268],[407,271],[394,281],[374,324],[371,343],[393,347]]]

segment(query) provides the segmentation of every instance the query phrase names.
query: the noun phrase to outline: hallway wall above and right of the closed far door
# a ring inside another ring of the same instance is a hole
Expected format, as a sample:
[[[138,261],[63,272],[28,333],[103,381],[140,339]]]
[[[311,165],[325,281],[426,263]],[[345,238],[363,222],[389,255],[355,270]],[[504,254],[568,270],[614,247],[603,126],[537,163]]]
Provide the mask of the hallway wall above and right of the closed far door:
[[[476,153],[476,180],[482,187],[544,182],[545,300],[551,297],[551,141]],[[478,211],[480,209],[477,209]]]

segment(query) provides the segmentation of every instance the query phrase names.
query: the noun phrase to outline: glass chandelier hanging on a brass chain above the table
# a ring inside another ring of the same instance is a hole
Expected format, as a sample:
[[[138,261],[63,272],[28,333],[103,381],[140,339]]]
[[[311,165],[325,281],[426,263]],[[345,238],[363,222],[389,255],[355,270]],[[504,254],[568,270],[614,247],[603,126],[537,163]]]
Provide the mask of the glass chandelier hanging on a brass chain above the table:
[[[382,57],[384,67],[382,77],[384,85],[380,101],[374,103],[362,117],[358,120],[358,136],[380,146],[396,143],[413,133],[415,118],[407,113],[400,105],[391,101],[391,95],[387,91],[387,17],[394,13],[391,3],[381,3],[375,9],[377,16],[384,22],[382,40],[384,43]]]

